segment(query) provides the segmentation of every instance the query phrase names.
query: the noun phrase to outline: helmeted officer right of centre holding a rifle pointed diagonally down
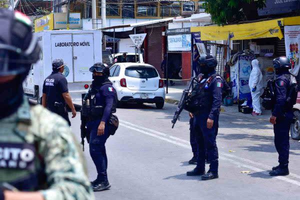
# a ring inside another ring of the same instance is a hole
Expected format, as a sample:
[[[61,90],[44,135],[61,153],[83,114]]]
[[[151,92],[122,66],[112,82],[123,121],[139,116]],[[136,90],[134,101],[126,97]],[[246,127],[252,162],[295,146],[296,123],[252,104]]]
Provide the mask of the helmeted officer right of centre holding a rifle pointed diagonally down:
[[[201,175],[202,180],[218,178],[218,150],[216,135],[222,100],[223,79],[216,73],[217,60],[211,55],[199,58],[201,72],[198,75],[197,98],[194,104],[199,108],[193,111],[193,125],[198,144],[197,166],[186,175]],[[205,154],[207,151],[209,170],[205,174]]]

